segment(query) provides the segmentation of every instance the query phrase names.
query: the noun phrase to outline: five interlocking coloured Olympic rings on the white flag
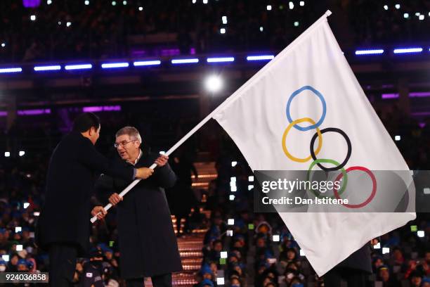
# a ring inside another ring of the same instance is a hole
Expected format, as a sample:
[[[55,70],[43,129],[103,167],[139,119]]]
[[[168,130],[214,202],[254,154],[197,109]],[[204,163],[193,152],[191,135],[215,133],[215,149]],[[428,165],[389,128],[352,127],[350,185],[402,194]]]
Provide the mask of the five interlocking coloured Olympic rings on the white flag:
[[[291,108],[291,103],[295,97],[299,96],[302,91],[306,91],[306,90],[313,92],[313,94],[315,94],[315,96],[317,96],[320,99],[321,104],[323,106],[323,114],[321,115],[318,122],[315,122],[310,117],[302,117],[302,118],[297,119],[297,120],[292,120],[291,113],[289,111]],[[336,180],[339,181],[340,179],[343,178],[341,188],[339,191],[337,191],[337,189],[333,190],[334,197],[337,199],[340,199],[341,194],[344,192],[344,190],[346,188],[346,184],[348,181],[348,177],[347,177],[348,172],[350,172],[351,170],[360,170],[360,171],[365,172],[366,174],[369,175],[370,179],[372,179],[372,193],[370,193],[370,196],[363,203],[344,204],[344,206],[346,208],[363,208],[363,206],[370,203],[372,201],[372,199],[374,198],[374,196],[376,194],[376,190],[377,190],[377,181],[374,177],[374,174],[370,170],[368,170],[366,167],[354,166],[354,167],[348,167],[346,170],[344,169],[345,165],[348,163],[349,158],[351,158],[351,153],[352,153],[351,140],[349,139],[346,132],[344,132],[341,129],[338,129],[337,127],[327,127],[325,129],[319,128],[320,125],[323,124],[323,122],[325,120],[325,115],[327,114],[327,104],[325,103],[325,98],[324,98],[323,94],[321,94],[320,91],[318,91],[317,89],[314,89],[311,86],[301,87],[297,91],[294,91],[291,94],[291,96],[289,96],[288,101],[287,101],[286,114],[287,114],[287,120],[289,122],[289,125],[287,126],[284,133],[282,134],[282,151],[284,151],[287,158],[289,158],[290,160],[292,160],[294,162],[308,162],[311,159],[313,160],[311,162],[311,165],[308,168],[308,180],[309,180],[311,171],[312,171],[313,167],[315,167],[315,165],[318,165],[318,167],[320,167],[321,170],[325,170],[326,172],[340,170],[341,173],[337,176]],[[308,127],[302,127],[299,125],[302,122],[310,122],[311,125]],[[297,129],[301,132],[306,132],[308,130],[315,129],[315,134],[312,136],[311,144],[310,144],[310,155],[307,158],[297,158],[296,156],[292,155],[292,153],[290,153],[288,148],[287,148],[287,135],[293,127],[294,127],[294,129]],[[344,139],[346,141],[346,145],[348,146],[348,149],[346,151],[346,158],[344,159],[343,162],[339,163],[335,160],[331,160],[331,159],[327,159],[327,158],[317,158],[318,153],[321,151],[321,148],[323,147],[323,134],[325,134],[326,132],[336,132],[336,133],[338,133],[344,137]],[[318,145],[314,150],[315,140],[317,138],[318,138]],[[321,163],[329,163],[331,165],[334,165],[334,167],[325,167]],[[315,196],[320,197],[320,194],[316,193],[313,189],[311,189],[311,191],[315,194]]]

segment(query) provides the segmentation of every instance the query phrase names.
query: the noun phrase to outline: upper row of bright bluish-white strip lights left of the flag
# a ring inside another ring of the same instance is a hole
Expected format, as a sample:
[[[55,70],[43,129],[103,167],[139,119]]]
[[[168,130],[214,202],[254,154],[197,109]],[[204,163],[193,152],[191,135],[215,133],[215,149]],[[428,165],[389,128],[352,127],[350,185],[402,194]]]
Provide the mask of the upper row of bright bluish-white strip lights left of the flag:
[[[272,60],[275,58],[274,55],[259,55],[259,56],[247,56],[247,61],[259,61],[259,60]],[[231,63],[235,61],[234,57],[221,57],[221,58],[207,58],[207,63]],[[181,59],[172,59],[172,65],[181,65],[181,64],[195,64],[199,63],[199,58],[181,58]],[[133,62],[133,66],[141,67],[141,66],[155,66],[161,65],[161,60],[140,60]],[[102,63],[100,67],[102,69],[112,69],[112,68],[129,68],[129,62],[117,62],[117,63]],[[91,70],[93,65],[90,63],[82,63],[82,64],[73,64],[73,65],[65,65],[65,70]],[[35,72],[43,72],[43,71],[58,71],[61,70],[61,65],[37,65],[34,66],[33,70]],[[0,68],[0,73],[10,73],[10,72],[22,72],[22,68],[14,67],[14,68]]]

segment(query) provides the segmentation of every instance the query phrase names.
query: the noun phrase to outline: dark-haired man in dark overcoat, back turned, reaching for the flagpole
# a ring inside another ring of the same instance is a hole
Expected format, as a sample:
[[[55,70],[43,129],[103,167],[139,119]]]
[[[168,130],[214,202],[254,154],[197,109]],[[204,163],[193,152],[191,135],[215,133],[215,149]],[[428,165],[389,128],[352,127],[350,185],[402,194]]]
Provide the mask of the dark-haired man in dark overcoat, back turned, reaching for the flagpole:
[[[99,174],[132,180],[148,178],[153,172],[112,163],[94,147],[99,134],[96,115],[77,116],[72,132],[60,141],[49,162],[36,242],[49,252],[50,286],[72,286],[76,258],[89,248],[90,212],[101,212],[99,218],[106,213],[101,206],[91,211],[90,198]]]

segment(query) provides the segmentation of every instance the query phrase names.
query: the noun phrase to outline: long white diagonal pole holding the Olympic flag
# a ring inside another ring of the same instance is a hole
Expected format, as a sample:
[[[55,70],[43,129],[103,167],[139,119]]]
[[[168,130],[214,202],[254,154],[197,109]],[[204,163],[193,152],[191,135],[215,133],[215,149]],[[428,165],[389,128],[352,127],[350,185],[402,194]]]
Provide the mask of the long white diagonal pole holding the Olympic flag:
[[[315,27],[316,25],[318,25],[318,23],[320,23],[321,21],[327,19],[328,16],[332,15],[332,11],[327,10],[323,16],[321,16],[318,20],[315,21],[315,23],[313,23],[311,25],[311,27],[308,27],[308,29],[306,29],[305,32],[303,32],[299,37],[297,37],[297,39],[295,39],[292,44],[294,44],[294,42],[297,42],[297,40],[299,40],[301,37],[304,37],[305,34],[307,34],[306,32],[310,31],[313,29],[313,27]],[[284,50],[282,50],[282,52],[278,55],[281,56],[281,54],[285,53],[289,46],[291,46],[292,44],[289,44]],[[278,58],[278,56],[276,56],[275,58]],[[206,124],[212,117],[214,117],[214,115],[216,113],[219,112],[219,110],[221,110],[222,108],[224,108],[225,106],[227,106],[228,103],[232,102],[235,98],[237,94],[240,94],[240,92],[245,89],[245,87],[248,86],[248,84],[250,82],[253,82],[256,78],[259,77],[259,75],[263,74],[263,72],[265,70],[267,70],[269,67],[271,67],[271,65],[274,63],[274,60],[271,60],[267,65],[265,65],[261,70],[259,70],[259,72],[257,72],[254,76],[252,76],[251,79],[249,79],[245,84],[242,85],[242,87],[240,87],[239,89],[237,89],[237,91],[235,91],[231,96],[229,96],[226,101],[223,101],[223,103],[221,103],[221,105],[219,105],[218,107],[216,107],[215,110],[212,110],[211,113],[209,113],[209,115],[207,115],[206,117],[204,117],[204,119],[198,124],[196,125],[193,129],[190,130],[190,132],[188,132],[188,134],[185,134],[185,136],[183,136],[182,139],[180,139],[174,146],[172,146],[169,151],[167,151],[165,153],[165,155],[169,156],[171,153],[173,153],[174,151],[176,151],[176,148],[178,148],[179,146],[181,146],[181,144],[183,144],[184,141],[186,141],[187,139],[190,138],[190,136],[192,136],[193,134],[195,134],[195,132],[197,132],[198,129],[200,129],[200,127],[202,127],[204,124]],[[154,169],[155,167],[157,167],[156,163],[153,163],[149,168]],[[131,182],[131,184],[129,184],[129,186],[126,187],[126,189],[124,189],[123,191],[121,191],[121,193],[119,193],[119,196],[125,196],[131,189],[133,189],[134,186],[136,186],[136,184],[138,184],[142,179],[135,179],[133,182]],[[110,210],[110,208],[112,208],[112,204],[108,203],[107,205],[105,205],[105,210]],[[98,212],[97,215],[99,215],[100,212]],[[94,223],[97,221],[97,215],[94,215],[93,217],[91,217],[91,223]]]

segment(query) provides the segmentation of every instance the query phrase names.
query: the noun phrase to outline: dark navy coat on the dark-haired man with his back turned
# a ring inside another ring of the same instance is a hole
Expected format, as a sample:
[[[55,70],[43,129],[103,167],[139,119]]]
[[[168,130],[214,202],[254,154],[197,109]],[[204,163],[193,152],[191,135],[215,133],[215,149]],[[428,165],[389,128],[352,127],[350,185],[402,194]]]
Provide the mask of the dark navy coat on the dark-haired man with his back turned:
[[[37,222],[41,248],[51,243],[70,243],[80,254],[89,248],[91,203],[100,173],[133,179],[133,167],[115,165],[98,153],[91,141],[71,132],[60,141],[49,162],[44,206]]]

